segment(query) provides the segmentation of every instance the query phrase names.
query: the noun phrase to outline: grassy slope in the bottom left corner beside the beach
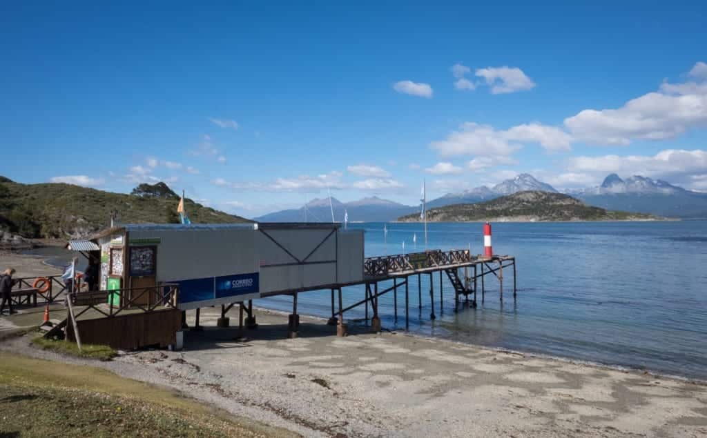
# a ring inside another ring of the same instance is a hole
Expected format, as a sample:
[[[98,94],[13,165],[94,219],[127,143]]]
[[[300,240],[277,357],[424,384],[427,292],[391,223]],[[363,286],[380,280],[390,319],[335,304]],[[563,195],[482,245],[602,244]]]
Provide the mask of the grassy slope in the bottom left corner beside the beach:
[[[0,352],[0,437],[291,437],[108,372]]]

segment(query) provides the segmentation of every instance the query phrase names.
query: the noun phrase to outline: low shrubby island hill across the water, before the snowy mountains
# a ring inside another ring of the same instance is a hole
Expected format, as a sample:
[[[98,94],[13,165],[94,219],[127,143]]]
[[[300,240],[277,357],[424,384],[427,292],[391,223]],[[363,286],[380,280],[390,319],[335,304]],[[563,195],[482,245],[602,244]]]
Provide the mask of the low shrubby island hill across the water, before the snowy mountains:
[[[643,213],[608,211],[604,208],[591,207],[571,196],[547,191],[519,191],[491,201],[457,203],[427,211],[428,222],[656,219],[660,218]],[[420,214],[406,215],[398,220],[419,222]]]

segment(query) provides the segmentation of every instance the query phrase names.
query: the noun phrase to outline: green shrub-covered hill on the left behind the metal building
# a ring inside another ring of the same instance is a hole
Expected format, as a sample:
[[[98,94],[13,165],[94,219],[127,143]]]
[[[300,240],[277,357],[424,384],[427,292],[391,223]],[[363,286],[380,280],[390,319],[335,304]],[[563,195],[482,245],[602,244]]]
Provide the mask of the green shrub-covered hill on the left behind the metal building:
[[[180,196],[167,184],[140,184],[131,194],[71,184],[19,184],[0,177],[0,230],[23,237],[86,237],[110,224],[179,223]],[[250,222],[185,199],[192,223]]]

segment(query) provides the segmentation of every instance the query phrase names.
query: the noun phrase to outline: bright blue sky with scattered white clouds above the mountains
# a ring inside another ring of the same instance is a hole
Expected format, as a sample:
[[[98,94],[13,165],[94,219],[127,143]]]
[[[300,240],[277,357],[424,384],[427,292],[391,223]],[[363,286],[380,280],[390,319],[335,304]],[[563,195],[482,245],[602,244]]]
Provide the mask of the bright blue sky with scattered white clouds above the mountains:
[[[251,217],[520,172],[707,191],[699,2],[16,3],[0,174],[18,182],[164,180]]]

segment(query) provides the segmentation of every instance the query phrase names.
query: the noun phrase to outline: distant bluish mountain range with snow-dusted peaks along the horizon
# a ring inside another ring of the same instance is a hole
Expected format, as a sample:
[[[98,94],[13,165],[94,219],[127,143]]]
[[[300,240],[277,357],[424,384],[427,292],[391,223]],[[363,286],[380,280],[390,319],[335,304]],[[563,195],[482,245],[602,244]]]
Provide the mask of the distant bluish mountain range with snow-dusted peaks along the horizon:
[[[427,201],[427,208],[490,201],[519,191],[559,193],[559,190],[550,184],[540,182],[532,175],[524,173],[506,179],[491,188],[481,186],[445,194]],[[571,194],[589,206],[607,210],[647,213],[672,218],[707,218],[707,194],[686,190],[660,179],[654,180],[638,175],[621,179],[617,174],[609,174],[598,187],[567,190],[563,193]],[[332,206],[329,206],[329,198],[324,198],[314,199],[301,208],[262,215],[255,220],[329,222],[332,218],[332,207],[336,222],[344,220],[344,211],[348,211],[351,221],[388,221],[420,210],[419,206],[406,206],[377,196],[349,203],[341,203],[332,198]]]

